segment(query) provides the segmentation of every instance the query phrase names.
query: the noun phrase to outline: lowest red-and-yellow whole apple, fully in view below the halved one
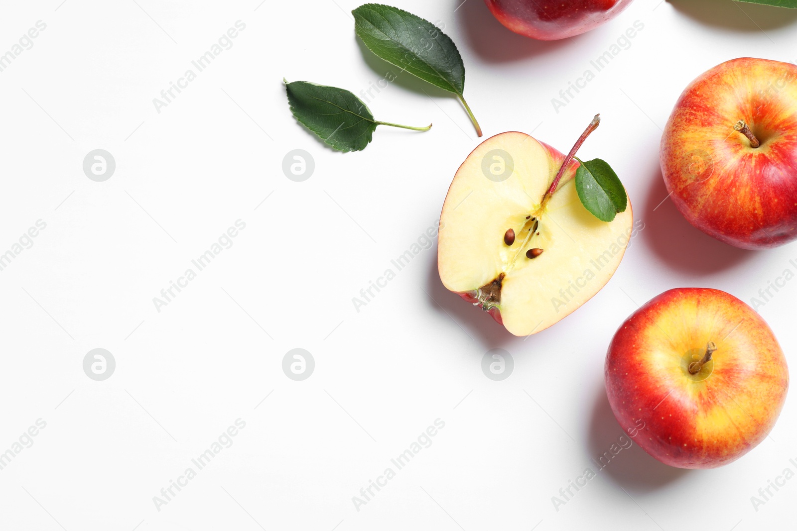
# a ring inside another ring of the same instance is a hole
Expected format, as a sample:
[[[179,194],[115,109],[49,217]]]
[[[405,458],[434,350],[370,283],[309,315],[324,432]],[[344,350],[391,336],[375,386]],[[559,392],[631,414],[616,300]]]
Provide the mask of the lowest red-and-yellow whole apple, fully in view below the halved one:
[[[709,341],[717,344],[713,371],[693,381],[684,354],[701,357]],[[621,427],[679,468],[720,467],[756,447],[775,425],[789,381],[783,352],[755,310],[694,287],[665,291],[622,323],[605,377]]]

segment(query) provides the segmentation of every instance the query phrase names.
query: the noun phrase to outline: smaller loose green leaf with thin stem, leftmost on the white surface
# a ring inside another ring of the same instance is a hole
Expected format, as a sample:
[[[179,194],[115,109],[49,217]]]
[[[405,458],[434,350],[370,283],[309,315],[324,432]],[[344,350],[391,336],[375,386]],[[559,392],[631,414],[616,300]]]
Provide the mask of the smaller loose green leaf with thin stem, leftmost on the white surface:
[[[432,127],[431,124],[427,127],[410,127],[379,122],[362,100],[343,88],[308,81],[284,81],[288,103],[296,120],[322,142],[344,153],[365,149],[371,143],[378,125],[413,131],[429,131]]]

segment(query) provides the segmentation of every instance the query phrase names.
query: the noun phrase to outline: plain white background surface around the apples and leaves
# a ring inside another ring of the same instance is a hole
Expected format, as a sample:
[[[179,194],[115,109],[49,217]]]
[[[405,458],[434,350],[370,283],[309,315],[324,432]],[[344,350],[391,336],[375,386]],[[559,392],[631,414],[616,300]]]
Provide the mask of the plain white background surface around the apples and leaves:
[[[0,452],[47,423],[0,470],[0,528],[787,525],[797,480],[757,512],[750,498],[797,470],[794,396],[771,439],[727,467],[677,470],[634,446],[558,511],[552,496],[622,435],[603,361],[638,304],[679,286],[750,301],[797,258],[793,246],[745,252],[692,228],[665,201],[658,162],[686,84],[734,57],[797,59],[797,12],[637,0],[591,33],[545,43],[510,33],[481,0],[395,0],[457,43],[485,138],[534,131],[567,151],[600,112],[580,154],[611,162],[645,224],[599,295],[523,340],[442,287],[435,248],[355,311],[351,298],[438,219],[480,140],[457,100],[404,75],[368,105],[431,131],[379,127],[363,152],[327,149],[290,115],[283,76],[359,93],[398,71],[355,40],[356,0],[258,3],[0,6],[0,53],[47,25],[0,72],[0,252],[47,224],[0,271]],[[238,20],[234,46],[156,111],[153,98]],[[644,29],[630,48],[557,114],[551,99],[634,21]],[[116,159],[106,182],[82,170],[98,148]],[[294,149],[315,160],[305,182],[282,172]],[[157,311],[153,297],[238,219],[234,245]],[[792,366],[795,290],[760,308]],[[106,381],[83,372],[94,348],[116,358]],[[305,381],[282,371],[294,348],[315,359]],[[505,381],[481,371],[493,348],[515,362]],[[153,497],[238,418],[234,444],[157,510]],[[438,418],[433,444],[356,510],[351,498]]]

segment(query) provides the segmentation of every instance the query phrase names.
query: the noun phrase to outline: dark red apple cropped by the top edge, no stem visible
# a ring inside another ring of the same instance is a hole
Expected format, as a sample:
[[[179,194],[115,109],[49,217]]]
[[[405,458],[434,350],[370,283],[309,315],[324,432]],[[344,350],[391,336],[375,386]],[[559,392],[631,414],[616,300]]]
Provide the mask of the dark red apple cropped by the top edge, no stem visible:
[[[515,33],[556,41],[610,21],[632,0],[485,0],[495,18]]]

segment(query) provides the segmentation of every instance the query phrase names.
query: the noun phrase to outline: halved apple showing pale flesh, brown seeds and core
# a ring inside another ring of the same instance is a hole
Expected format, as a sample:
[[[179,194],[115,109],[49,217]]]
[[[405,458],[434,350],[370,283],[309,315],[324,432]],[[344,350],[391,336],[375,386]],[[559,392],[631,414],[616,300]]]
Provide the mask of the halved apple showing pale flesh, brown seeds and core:
[[[442,283],[517,336],[545,330],[598,293],[634,230],[630,201],[611,222],[584,208],[575,159],[544,201],[564,161],[524,133],[493,136],[462,163],[443,204]]]

